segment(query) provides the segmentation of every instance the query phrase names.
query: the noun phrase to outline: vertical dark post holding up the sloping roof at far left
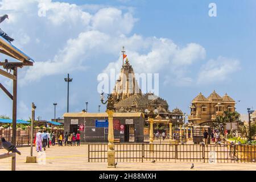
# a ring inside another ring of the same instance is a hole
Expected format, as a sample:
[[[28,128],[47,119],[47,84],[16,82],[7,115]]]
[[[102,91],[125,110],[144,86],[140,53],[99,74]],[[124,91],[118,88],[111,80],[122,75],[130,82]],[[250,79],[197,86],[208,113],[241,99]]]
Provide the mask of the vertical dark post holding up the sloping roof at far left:
[[[18,69],[17,67],[14,67],[13,75],[16,77],[15,80],[13,80],[13,136],[11,139],[11,143],[13,143],[16,146],[16,117],[17,117],[17,73]]]

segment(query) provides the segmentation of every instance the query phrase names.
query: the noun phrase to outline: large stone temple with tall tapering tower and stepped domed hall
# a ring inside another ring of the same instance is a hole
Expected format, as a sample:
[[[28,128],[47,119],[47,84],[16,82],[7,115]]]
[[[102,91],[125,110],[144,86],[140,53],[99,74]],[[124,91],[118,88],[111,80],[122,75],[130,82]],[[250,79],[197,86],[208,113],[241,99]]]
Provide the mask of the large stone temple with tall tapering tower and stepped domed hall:
[[[179,109],[170,111],[167,101],[163,98],[155,96],[154,93],[142,93],[135,78],[133,67],[127,58],[125,64],[122,65],[112,95],[115,100],[116,113],[144,113],[146,109],[157,109],[158,114],[164,118],[170,117],[170,115],[177,118],[183,116],[183,112]]]

